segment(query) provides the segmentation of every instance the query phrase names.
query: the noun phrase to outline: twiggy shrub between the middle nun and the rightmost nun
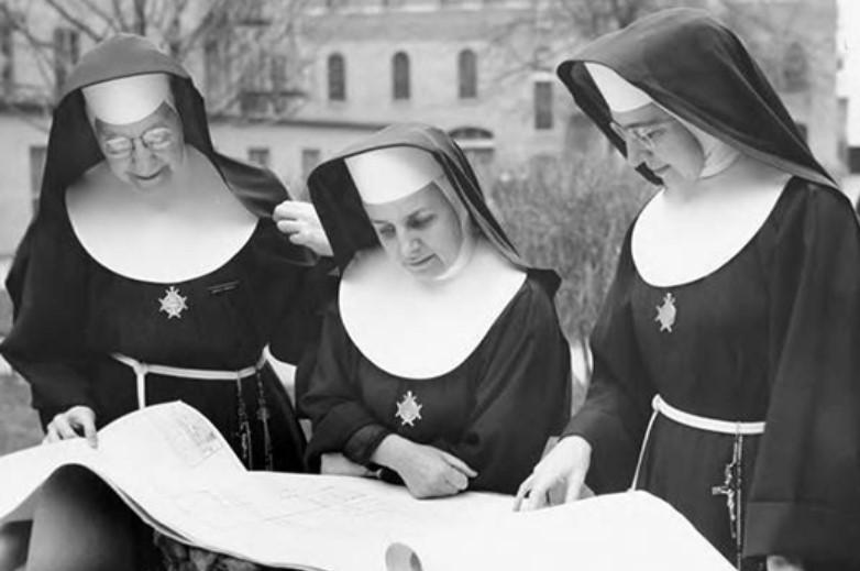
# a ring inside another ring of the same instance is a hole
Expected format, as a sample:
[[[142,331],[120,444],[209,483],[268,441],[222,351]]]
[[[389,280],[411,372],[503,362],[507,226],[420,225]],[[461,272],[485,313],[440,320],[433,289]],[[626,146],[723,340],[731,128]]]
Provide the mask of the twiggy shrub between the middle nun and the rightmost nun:
[[[594,327],[627,228],[653,187],[596,154],[538,158],[522,173],[498,177],[489,201],[523,257],[561,275],[559,317],[576,343]]]

